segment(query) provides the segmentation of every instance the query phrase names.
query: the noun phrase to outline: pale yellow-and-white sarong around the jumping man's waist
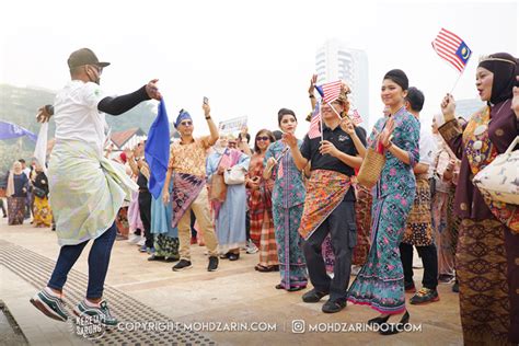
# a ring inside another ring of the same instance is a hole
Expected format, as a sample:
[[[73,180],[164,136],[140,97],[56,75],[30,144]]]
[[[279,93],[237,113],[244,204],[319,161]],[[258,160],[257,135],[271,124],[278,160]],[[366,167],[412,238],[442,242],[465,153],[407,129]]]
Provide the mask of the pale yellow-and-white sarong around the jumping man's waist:
[[[138,189],[122,164],[82,141],[56,141],[48,177],[59,245],[76,245],[103,234],[123,201]]]

